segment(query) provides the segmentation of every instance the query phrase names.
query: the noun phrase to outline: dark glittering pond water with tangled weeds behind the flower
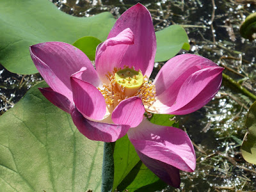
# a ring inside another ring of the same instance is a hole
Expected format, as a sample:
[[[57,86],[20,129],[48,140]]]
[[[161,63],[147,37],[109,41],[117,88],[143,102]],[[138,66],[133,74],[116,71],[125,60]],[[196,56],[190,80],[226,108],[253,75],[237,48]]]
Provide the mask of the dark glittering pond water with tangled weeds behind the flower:
[[[136,3],[147,6],[156,31],[172,24],[182,25],[189,36],[190,51],[225,67],[224,73],[256,94],[256,41],[239,35],[239,26],[255,12],[253,0],[174,0],[174,1],[55,1],[60,10],[76,17],[111,12],[118,18]],[[156,75],[164,63],[156,63]],[[20,76],[0,68],[0,114],[3,114],[37,81],[39,74]],[[153,76],[154,77],[154,76]],[[256,191],[256,166],[246,163],[240,146],[246,128],[244,120],[253,99],[239,92],[227,79],[214,99],[190,115],[178,116],[196,150],[197,167],[181,173],[180,189],[164,191]]]

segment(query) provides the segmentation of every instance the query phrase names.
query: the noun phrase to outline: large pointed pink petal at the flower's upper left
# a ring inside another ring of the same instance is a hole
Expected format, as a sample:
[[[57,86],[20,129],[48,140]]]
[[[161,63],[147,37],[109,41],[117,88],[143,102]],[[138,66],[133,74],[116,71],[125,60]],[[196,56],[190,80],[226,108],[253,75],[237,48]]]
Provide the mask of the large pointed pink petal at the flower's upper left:
[[[47,42],[29,48],[36,68],[52,90],[72,99],[70,76],[86,67],[82,79],[99,86],[100,79],[88,57],[76,47],[63,42]]]

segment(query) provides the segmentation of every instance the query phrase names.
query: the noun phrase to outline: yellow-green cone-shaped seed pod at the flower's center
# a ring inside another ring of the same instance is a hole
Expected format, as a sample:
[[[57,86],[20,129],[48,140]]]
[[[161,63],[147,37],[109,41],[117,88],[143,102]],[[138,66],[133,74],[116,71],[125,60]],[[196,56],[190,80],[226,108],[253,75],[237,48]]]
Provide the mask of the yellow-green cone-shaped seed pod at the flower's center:
[[[125,97],[132,97],[140,89],[143,83],[143,75],[132,68],[124,68],[115,73],[115,81],[120,91],[124,89]]]

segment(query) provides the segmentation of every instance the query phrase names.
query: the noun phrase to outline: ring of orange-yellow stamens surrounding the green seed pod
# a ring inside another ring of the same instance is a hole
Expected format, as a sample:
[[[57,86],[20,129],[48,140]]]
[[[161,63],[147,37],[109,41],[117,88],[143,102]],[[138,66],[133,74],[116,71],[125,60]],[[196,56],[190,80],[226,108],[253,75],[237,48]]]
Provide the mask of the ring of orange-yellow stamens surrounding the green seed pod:
[[[124,68],[129,68],[129,67],[125,66]],[[125,94],[126,87],[123,84],[120,84],[120,82],[118,83],[116,81],[115,73],[120,70],[122,69],[115,67],[112,73],[108,72],[106,76],[108,77],[110,83],[108,85],[104,84],[101,89],[99,88],[99,91],[102,93],[102,95],[105,98],[105,102],[107,104],[109,111],[112,111],[113,109],[115,109],[115,107],[122,100],[127,99],[129,97],[133,97],[133,96],[140,97],[143,104],[145,106],[148,106],[149,108],[154,102],[156,97],[156,88],[152,84],[152,81],[149,81],[148,77],[144,76],[143,83],[141,84],[140,88],[138,88],[138,91],[133,95],[127,95]],[[134,67],[132,67],[132,70],[134,70]]]

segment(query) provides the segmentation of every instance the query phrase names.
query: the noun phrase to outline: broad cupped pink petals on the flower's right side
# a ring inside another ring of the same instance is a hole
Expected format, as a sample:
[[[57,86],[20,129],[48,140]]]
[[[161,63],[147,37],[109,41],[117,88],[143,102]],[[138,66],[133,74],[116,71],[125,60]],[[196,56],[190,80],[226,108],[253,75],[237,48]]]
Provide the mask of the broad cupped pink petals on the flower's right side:
[[[176,58],[176,57],[175,57]],[[180,70],[179,77],[169,76],[166,73],[172,62],[166,63],[167,67],[157,74],[154,82],[156,84],[156,102],[150,107],[152,113],[170,113],[184,115],[192,113],[202,108],[214,97],[221,86],[223,68],[206,58],[188,54],[181,58],[180,63],[184,63]],[[194,60],[192,60],[194,59]],[[179,60],[175,60],[178,62]],[[174,62],[174,64],[175,64]],[[196,62],[196,63],[195,63]],[[180,63],[176,63],[179,65]],[[188,67],[188,63],[191,67]],[[209,65],[210,64],[210,65]],[[165,66],[165,65],[164,65]],[[178,73],[176,68],[174,70]],[[163,81],[161,84],[160,81]],[[168,84],[170,84],[168,86]],[[164,90],[166,88],[166,90]]]

